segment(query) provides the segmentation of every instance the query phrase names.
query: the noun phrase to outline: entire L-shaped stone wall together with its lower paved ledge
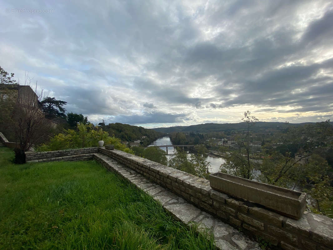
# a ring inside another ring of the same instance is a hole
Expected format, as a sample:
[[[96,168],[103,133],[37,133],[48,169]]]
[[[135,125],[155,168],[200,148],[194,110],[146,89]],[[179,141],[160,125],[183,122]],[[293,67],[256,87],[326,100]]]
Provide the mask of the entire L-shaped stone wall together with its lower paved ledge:
[[[96,147],[26,152],[28,162],[93,158],[152,195],[179,220],[212,230],[220,249],[259,249],[244,234],[258,236],[275,249],[333,249],[333,220],[326,216],[305,212],[299,220],[291,219],[213,190],[208,180],[123,151]]]

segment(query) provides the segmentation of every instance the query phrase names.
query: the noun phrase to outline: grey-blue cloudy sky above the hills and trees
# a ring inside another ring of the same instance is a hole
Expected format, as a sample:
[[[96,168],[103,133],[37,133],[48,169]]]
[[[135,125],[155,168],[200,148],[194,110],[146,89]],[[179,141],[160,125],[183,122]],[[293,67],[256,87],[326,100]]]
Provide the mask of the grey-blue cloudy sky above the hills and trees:
[[[30,2],[0,0],[1,67],[93,123],[333,117],[332,1]]]

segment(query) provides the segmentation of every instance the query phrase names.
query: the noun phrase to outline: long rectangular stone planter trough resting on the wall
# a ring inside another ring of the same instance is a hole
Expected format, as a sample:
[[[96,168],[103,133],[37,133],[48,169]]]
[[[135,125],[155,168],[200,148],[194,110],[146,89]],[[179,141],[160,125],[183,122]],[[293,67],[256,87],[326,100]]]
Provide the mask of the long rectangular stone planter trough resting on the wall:
[[[224,173],[209,175],[209,181],[217,191],[261,204],[294,219],[302,217],[305,209],[305,193]]]

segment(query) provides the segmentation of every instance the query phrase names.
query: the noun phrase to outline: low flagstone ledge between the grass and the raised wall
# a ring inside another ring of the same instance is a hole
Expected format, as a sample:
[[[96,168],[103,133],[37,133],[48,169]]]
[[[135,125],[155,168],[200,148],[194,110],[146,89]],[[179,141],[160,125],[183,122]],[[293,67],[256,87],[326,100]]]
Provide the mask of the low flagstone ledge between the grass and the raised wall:
[[[108,164],[113,171],[123,176],[136,187],[151,195],[160,202],[164,209],[177,220],[191,226],[196,223],[198,230],[209,230],[214,235],[215,245],[221,250],[260,250],[259,244],[252,241],[242,232],[224,223],[220,219],[200,210],[183,198],[150,181],[142,174],[135,172],[112,158],[94,153],[95,157]]]

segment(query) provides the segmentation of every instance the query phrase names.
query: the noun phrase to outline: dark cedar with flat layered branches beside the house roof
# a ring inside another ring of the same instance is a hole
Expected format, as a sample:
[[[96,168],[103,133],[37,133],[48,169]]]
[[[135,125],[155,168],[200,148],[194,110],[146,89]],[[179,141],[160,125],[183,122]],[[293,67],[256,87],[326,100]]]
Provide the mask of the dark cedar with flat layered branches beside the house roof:
[[[56,100],[54,97],[45,97],[44,100],[41,101],[41,104],[43,105],[43,111],[45,112],[46,118],[66,118],[66,109],[64,109],[63,106],[66,105],[67,102]]]

